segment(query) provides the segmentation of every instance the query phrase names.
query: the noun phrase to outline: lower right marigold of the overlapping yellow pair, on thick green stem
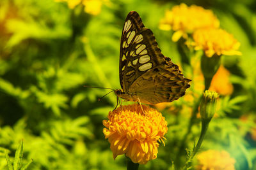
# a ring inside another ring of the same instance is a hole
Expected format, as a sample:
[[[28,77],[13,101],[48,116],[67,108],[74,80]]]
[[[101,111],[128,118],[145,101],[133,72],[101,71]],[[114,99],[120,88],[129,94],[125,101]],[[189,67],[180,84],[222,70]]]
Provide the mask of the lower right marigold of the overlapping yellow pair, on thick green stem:
[[[212,55],[241,55],[240,43],[223,29],[198,29],[193,33],[195,50],[204,50],[207,57]]]

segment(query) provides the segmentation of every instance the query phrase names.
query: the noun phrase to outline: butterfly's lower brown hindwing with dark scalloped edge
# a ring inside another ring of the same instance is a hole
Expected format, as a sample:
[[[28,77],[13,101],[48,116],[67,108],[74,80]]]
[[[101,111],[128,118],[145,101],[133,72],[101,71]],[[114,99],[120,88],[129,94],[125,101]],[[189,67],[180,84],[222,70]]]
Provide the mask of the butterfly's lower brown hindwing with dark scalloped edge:
[[[190,87],[189,81],[180,73],[179,67],[166,61],[166,64],[156,66],[138,77],[129,92],[145,104],[172,102],[184,96]]]

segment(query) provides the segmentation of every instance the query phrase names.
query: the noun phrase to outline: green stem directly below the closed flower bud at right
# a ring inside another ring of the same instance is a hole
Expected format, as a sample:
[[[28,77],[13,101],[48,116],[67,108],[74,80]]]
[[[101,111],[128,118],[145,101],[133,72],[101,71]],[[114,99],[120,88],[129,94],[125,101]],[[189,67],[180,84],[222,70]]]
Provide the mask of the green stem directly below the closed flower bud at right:
[[[191,162],[193,160],[193,158],[195,157],[196,153],[198,152],[198,150],[200,149],[203,141],[204,141],[204,136],[207,132],[207,129],[209,127],[209,122],[211,121],[211,119],[209,120],[202,120],[202,129],[201,129],[201,133],[200,133],[200,137],[196,143],[195,148],[193,148],[192,153],[189,155],[188,160],[186,161],[185,166],[183,167],[183,169],[188,169],[191,166]]]

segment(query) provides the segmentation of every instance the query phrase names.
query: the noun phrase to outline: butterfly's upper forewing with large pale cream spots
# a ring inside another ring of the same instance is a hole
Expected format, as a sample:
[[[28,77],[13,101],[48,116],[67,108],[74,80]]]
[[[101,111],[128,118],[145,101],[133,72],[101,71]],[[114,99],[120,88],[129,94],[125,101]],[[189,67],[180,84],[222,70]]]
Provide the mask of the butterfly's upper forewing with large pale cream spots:
[[[129,94],[133,81],[163,63],[164,56],[152,31],[144,27],[136,11],[131,11],[125,20],[120,47],[120,84],[124,92]]]

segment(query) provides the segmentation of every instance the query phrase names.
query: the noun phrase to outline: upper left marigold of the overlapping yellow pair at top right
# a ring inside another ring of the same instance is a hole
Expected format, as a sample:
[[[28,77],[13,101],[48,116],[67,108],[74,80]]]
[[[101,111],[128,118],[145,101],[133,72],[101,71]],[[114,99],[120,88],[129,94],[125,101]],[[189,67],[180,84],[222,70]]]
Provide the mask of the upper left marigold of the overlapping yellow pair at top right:
[[[171,11],[166,11],[165,17],[161,20],[159,28],[163,30],[173,30],[173,41],[178,41],[181,36],[187,38],[187,33],[192,33],[196,29],[205,27],[218,28],[220,22],[211,10],[205,10],[201,6],[187,6],[182,3],[173,6]]]

